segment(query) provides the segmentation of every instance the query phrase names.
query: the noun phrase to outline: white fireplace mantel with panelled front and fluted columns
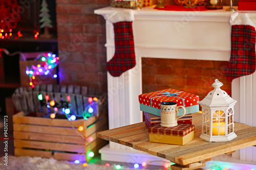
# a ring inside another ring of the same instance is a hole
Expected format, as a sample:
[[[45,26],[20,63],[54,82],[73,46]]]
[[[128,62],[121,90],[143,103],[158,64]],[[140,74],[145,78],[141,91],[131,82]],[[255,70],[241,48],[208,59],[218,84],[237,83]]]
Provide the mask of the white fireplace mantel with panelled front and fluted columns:
[[[163,11],[147,7],[133,11],[136,66],[120,77],[112,77],[108,73],[110,129],[142,122],[138,102],[138,95],[142,92],[142,57],[229,60],[231,27],[230,12],[226,12],[226,8],[209,11]],[[105,7],[94,11],[106,19],[107,61],[114,56],[115,43],[113,24],[106,18],[106,14],[120,10],[130,9]],[[247,12],[256,25],[256,11],[242,12]],[[237,122],[249,125],[253,125],[253,120],[256,122],[256,106],[253,105],[256,103],[256,89],[253,84],[256,84],[255,73],[232,82],[232,98],[238,100],[234,118]],[[247,114],[250,117],[240,115],[240,111],[249,112]],[[115,143],[110,143],[110,148],[127,149]],[[248,159],[247,155],[240,151],[240,159],[256,160],[256,154],[253,157],[251,153]],[[117,158],[118,156],[115,157]]]

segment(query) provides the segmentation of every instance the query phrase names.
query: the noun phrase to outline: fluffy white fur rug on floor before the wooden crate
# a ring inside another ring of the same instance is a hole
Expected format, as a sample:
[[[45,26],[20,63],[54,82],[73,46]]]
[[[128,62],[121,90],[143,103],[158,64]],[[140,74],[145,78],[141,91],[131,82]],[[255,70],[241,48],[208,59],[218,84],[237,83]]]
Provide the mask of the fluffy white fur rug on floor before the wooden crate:
[[[5,165],[4,157],[0,158],[0,169],[2,170],[116,170],[114,165],[104,166],[97,164],[88,164],[83,166],[82,163],[74,164],[68,161],[58,161],[53,158],[40,158],[29,156],[8,156],[8,166]],[[129,169],[123,167],[122,169]]]

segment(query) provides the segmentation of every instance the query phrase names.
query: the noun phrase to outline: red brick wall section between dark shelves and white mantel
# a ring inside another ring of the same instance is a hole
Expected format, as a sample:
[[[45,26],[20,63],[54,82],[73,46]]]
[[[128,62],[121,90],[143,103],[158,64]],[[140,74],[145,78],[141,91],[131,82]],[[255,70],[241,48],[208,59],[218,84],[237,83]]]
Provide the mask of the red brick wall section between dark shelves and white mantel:
[[[107,91],[105,20],[108,0],[56,0],[60,84]]]

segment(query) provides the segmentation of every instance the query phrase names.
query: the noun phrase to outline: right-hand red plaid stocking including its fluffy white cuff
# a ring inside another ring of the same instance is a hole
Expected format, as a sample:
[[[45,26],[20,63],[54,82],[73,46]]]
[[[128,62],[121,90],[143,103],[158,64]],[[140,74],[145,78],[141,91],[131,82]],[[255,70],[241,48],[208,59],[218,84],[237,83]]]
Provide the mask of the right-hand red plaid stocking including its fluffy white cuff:
[[[255,27],[245,13],[239,15],[235,13],[237,18],[231,16],[230,19],[231,53],[230,61],[225,69],[225,75],[230,82],[235,78],[253,74],[256,66]],[[241,21],[245,23],[241,23]]]

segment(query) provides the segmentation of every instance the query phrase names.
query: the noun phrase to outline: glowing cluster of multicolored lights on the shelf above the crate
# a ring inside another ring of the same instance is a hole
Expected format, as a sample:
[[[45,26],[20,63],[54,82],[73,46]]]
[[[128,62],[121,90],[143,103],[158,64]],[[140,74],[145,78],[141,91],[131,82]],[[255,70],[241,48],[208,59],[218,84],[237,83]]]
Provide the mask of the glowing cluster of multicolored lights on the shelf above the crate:
[[[39,55],[35,60],[41,60],[42,64],[32,65],[31,67],[27,66],[26,74],[29,76],[29,84],[32,88],[35,87],[33,81],[35,76],[39,75],[52,75],[51,71],[59,63],[59,57],[52,53],[46,53]],[[52,77],[57,78],[57,75],[52,75]]]

